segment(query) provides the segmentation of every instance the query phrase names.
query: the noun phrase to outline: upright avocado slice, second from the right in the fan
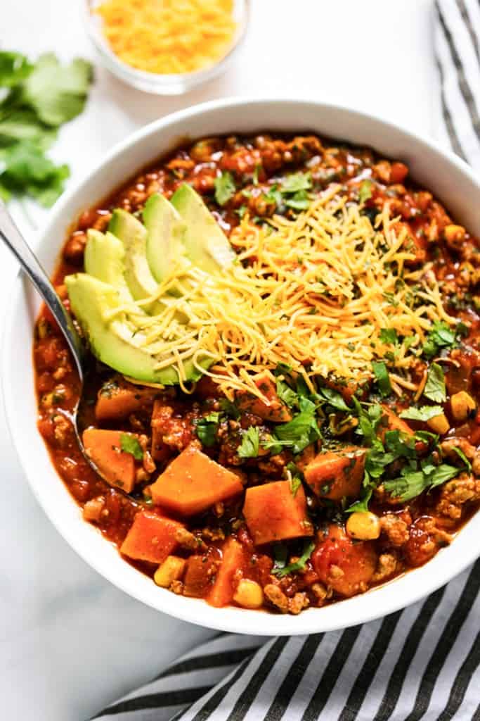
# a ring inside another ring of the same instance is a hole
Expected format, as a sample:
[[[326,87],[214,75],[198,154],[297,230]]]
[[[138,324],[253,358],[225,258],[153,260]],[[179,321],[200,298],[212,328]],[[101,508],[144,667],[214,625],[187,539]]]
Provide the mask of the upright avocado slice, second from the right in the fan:
[[[153,193],[145,203],[143,222],[147,229],[147,260],[158,283],[185,255],[186,225],[164,195]]]

